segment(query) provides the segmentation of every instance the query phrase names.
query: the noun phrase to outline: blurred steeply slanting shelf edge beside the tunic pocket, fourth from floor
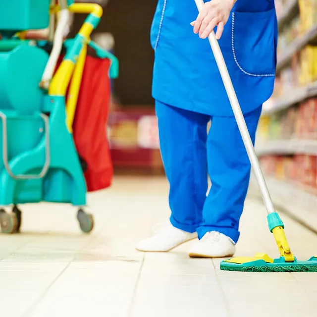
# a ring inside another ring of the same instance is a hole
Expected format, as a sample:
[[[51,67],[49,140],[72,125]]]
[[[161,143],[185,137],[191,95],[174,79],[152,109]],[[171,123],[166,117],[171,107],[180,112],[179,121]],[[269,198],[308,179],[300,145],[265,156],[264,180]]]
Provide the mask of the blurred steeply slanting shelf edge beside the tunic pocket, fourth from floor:
[[[276,73],[279,73],[283,67],[285,67],[292,59],[292,56],[301,51],[306,45],[314,42],[317,39],[317,25],[315,25],[310,31],[304,34],[302,37],[293,41],[282,53],[278,56],[278,62],[276,66]]]

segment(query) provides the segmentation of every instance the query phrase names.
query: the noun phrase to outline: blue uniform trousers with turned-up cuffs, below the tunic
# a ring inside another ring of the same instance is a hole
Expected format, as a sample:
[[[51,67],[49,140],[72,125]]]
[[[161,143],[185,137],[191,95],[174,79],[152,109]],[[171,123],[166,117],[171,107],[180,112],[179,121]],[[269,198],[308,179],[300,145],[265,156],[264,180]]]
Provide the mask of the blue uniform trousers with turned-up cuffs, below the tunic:
[[[245,114],[253,142],[262,106]],[[198,232],[219,231],[234,242],[246,198],[251,165],[234,117],[192,112],[156,101],[159,140],[170,184],[170,221]],[[211,128],[207,133],[207,124]],[[208,173],[211,190],[208,190]]]

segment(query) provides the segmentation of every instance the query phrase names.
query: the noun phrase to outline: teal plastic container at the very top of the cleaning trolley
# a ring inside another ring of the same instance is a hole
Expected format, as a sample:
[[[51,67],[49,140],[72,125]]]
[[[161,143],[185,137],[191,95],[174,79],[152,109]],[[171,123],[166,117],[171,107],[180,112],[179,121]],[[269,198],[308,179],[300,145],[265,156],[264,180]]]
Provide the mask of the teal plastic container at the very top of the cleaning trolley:
[[[50,0],[0,0],[0,30],[21,31],[49,26]]]

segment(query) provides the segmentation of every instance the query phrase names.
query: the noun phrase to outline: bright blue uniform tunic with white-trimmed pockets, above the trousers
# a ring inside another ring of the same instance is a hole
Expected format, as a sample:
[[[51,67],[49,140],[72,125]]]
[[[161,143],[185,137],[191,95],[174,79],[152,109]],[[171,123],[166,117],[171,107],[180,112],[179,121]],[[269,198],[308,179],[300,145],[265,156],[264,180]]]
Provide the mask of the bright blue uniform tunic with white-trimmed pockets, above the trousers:
[[[206,1],[205,1],[206,2]],[[159,0],[151,28],[153,97],[211,115],[232,116],[208,39],[193,33],[194,0]],[[237,0],[219,45],[244,113],[272,94],[277,45],[274,0]]]

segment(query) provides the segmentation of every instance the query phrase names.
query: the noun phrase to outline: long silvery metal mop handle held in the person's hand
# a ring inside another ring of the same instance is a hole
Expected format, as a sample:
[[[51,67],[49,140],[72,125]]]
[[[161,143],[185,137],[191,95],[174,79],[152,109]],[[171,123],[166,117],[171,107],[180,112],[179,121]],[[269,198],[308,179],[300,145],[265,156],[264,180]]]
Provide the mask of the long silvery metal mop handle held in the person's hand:
[[[197,8],[198,8],[198,11],[200,12],[204,6],[204,0],[195,0],[195,2],[197,5]],[[250,159],[251,166],[254,170],[258,185],[260,187],[262,198],[264,201],[264,205],[266,207],[266,211],[267,211],[267,213],[275,212],[275,209],[274,209],[274,206],[272,203],[272,199],[271,199],[270,194],[268,192],[268,188],[267,188],[267,185],[266,185],[266,182],[264,179],[264,175],[263,175],[263,172],[262,172],[261,167],[260,167],[259,159],[258,159],[256,151],[254,149],[254,146],[253,146],[250,134],[249,134],[248,127],[247,127],[246,122],[244,120],[244,116],[243,116],[237,95],[234,91],[226,63],[224,61],[223,55],[221,53],[221,50],[220,50],[220,47],[218,44],[218,41],[217,41],[213,31],[209,35],[208,39],[209,39],[214,58],[216,60],[216,63],[217,63],[217,66],[218,66],[218,69],[220,72],[220,75],[221,75],[225,90],[227,92],[227,95],[228,95],[228,98],[230,101],[230,105],[232,107],[235,119],[237,121],[239,131],[240,131],[242,139],[243,139],[244,146],[247,150],[247,154],[248,154],[248,157]]]

